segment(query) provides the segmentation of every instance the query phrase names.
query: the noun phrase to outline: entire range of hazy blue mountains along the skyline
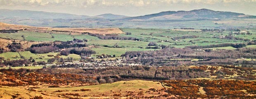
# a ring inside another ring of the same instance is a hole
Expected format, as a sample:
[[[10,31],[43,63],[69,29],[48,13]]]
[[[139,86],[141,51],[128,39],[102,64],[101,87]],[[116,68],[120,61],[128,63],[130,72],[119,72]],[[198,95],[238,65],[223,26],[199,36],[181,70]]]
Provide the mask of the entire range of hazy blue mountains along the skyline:
[[[102,14],[98,16],[80,16],[64,13],[50,13],[43,11],[0,9],[0,18],[32,18],[32,19],[119,19],[119,20],[186,20],[186,19],[226,19],[226,18],[256,18],[234,12],[213,11],[209,9],[197,9],[192,11],[163,11],[157,14],[145,16],[122,16],[114,14]]]

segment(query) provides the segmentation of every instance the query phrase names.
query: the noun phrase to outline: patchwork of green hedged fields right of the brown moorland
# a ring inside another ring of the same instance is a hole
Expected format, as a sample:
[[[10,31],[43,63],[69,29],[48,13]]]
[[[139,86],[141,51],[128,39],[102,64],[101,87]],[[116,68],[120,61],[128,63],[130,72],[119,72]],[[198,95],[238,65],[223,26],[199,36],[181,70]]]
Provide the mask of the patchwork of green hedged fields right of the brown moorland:
[[[124,32],[130,32],[132,35],[126,35],[134,38],[142,38],[142,41],[156,42],[158,45],[169,45],[171,47],[183,48],[186,46],[205,46],[205,45],[216,45],[220,43],[245,43],[246,41],[229,40],[216,38],[218,36],[228,36],[228,32],[185,32],[185,31],[174,31],[170,29],[122,29]],[[250,32],[255,34],[255,32]],[[122,34],[125,36],[124,34]],[[251,39],[255,35],[238,35],[239,38]],[[172,38],[182,36],[197,36],[197,38],[185,38],[173,41]],[[256,37],[255,37],[256,38]],[[162,42],[161,42],[162,41]],[[164,42],[163,42],[164,41]],[[167,42],[166,42],[167,41]],[[159,43],[161,42],[161,43]]]

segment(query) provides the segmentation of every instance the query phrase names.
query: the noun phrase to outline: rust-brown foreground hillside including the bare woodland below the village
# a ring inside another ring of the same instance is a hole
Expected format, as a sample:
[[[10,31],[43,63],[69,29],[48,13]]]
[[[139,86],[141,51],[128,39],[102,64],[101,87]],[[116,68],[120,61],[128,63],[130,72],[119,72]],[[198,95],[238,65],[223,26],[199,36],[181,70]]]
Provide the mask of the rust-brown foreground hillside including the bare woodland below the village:
[[[55,67],[0,69],[0,97],[256,98],[256,70],[249,67]]]

